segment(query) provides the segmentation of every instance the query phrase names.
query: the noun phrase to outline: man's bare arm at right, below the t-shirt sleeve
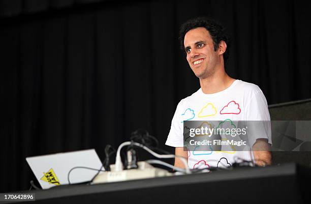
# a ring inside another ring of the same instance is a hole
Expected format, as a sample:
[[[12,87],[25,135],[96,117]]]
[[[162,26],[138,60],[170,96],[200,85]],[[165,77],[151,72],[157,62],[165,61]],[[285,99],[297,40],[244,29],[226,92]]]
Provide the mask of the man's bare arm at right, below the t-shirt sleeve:
[[[259,138],[253,145],[253,153],[255,163],[259,166],[271,165],[272,156],[270,152],[270,144],[267,139]]]

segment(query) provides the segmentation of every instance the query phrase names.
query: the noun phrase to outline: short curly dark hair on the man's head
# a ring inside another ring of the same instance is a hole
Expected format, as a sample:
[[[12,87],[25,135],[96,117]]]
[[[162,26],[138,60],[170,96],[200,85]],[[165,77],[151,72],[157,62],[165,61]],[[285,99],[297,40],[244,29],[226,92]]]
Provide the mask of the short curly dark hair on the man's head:
[[[229,58],[230,37],[226,33],[226,29],[224,28],[223,25],[221,25],[219,22],[209,17],[197,17],[194,19],[190,19],[180,26],[179,30],[180,48],[184,50],[183,40],[185,34],[188,31],[193,30],[197,27],[205,27],[206,30],[209,32],[214,43],[214,51],[218,49],[219,43],[222,40],[226,42],[227,49],[226,52],[224,53],[224,62],[226,64]]]

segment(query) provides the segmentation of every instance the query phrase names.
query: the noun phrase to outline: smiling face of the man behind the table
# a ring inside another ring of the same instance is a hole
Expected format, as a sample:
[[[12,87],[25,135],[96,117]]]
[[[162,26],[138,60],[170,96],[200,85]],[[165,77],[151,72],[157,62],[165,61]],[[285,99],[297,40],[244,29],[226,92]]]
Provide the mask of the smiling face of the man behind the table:
[[[204,27],[190,30],[184,36],[184,47],[187,61],[199,78],[213,75],[220,57],[214,51],[214,44],[209,32]]]

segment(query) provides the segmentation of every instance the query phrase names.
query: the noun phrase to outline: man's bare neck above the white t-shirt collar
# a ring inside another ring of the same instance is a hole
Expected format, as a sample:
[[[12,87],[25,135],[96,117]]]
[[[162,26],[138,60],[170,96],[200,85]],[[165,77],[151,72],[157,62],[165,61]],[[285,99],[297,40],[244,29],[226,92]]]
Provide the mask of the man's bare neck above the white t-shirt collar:
[[[200,78],[200,85],[204,94],[215,94],[227,89],[234,81],[235,79],[223,71],[214,73],[212,76],[204,79]]]

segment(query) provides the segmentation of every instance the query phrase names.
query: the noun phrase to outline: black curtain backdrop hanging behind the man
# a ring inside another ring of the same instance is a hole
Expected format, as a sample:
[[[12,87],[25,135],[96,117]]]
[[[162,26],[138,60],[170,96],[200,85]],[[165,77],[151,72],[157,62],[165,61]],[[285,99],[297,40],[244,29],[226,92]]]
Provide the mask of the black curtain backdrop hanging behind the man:
[[[304,1],[8,2],[0,1],[0,192],[35,180],[25,157],[95,148],[103,159],[106,144],[117,148],[137,128],[173,151],[164,143],[176,105],[200,87],[177,40],[189,18],[228,28],[229,75],[258,84],[268,104],[311,98]]]

